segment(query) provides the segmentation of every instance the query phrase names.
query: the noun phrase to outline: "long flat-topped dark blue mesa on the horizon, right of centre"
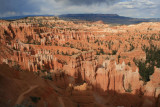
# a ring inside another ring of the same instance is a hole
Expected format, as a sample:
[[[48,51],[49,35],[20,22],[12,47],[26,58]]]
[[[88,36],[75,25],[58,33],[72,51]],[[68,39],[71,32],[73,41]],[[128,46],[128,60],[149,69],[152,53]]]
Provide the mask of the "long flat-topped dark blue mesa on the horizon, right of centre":
[[[117,14],[64,14],[60,15],[63,19],[79,19],[87,21],[99,21],[102,20],[106,24],[137,24],[141,22],[160,22],[160,19],[152,18],[131,18],[125,16],[119,16]]]

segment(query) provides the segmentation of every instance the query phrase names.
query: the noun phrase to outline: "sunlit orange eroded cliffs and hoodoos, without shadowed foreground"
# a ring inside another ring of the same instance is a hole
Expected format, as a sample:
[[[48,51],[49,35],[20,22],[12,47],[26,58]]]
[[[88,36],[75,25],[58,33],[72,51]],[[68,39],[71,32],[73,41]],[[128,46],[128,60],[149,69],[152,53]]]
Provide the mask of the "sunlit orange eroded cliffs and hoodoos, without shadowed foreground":
[[[144,47],[151,43],[160,46],[159,32],[160,23],[109,26],[55,17],[0,21],[0,63],[20,65],[40,76],[63,72],[74,78],[71,84],[87,82],[98,92],[158,99],[159,68],[144,83],[134,60],[145,61]]]

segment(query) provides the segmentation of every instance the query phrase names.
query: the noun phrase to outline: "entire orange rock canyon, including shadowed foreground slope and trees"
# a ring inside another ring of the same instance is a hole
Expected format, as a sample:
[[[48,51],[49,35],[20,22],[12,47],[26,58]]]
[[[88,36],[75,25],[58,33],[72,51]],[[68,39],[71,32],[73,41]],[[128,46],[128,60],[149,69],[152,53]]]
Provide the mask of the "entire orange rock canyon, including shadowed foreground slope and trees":
[[[159,22],[0,20],[0,64],[2,107],[160,106]]]

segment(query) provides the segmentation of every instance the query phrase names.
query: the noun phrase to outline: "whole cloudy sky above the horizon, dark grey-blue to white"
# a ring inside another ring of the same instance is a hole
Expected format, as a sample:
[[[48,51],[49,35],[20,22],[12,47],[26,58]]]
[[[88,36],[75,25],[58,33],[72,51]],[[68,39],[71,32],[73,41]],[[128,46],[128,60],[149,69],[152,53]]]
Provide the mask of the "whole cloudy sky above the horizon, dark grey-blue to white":
[[[0,0],[0,17],[60,14],[118,14],[160,18],[160,0]]]

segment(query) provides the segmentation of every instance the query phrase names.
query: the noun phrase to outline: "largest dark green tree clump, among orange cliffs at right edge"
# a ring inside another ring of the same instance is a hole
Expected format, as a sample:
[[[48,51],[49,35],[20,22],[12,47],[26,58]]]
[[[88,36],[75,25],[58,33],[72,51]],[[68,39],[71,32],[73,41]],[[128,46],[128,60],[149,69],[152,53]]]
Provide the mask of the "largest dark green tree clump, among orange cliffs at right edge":
[[[135,64],[139,68],[141,80],[144,82],[150,81],[150,76],[154,73],[154,66],[160,68],[160,49],[150,44],[150,48],[143,46],[143,51],[146,53],[146,61],[136,61]]]

